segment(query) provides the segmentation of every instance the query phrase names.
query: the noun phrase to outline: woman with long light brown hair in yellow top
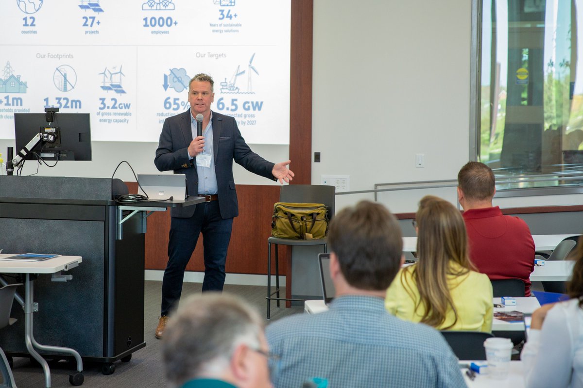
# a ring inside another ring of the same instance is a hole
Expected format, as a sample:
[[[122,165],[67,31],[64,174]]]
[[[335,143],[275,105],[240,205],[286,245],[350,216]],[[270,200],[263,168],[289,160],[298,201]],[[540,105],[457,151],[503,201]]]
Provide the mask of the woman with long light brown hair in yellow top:
[[[387,310],[439,330],[491,332],[492,284],[487,275],[473,270],[459,211],[427,195],[419,202],[416,222],[419,261],[402,268],[391,283]]]

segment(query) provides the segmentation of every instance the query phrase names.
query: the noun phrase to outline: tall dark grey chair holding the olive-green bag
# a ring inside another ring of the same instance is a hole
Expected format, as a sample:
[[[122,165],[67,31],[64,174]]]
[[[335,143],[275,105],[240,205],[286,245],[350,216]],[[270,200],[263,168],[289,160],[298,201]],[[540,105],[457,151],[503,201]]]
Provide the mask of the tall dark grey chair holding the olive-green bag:
[[[328,219],[331,220],[334,215],[334,202],[336,195],[336,187],[316,184],[290,184],[282,186],[279,192],[279,202],[296,202],[296,203],[310,203],[310,204],[324,204],[328,208]],[[269,237],[268,255],[267,255],[267,319],[271,318],[271,301],[279,302],[285,301],[304,301],[303,299],[281,298],[279,296],[279,245],[292,246],[311,246],[323,245],[324,252],[327,251],[327,240],[291,240],[280,239],[279,237]],[[271,291],[271,245],[275,245],[275,291]],[[276,297],[273,297],[276,294]]]

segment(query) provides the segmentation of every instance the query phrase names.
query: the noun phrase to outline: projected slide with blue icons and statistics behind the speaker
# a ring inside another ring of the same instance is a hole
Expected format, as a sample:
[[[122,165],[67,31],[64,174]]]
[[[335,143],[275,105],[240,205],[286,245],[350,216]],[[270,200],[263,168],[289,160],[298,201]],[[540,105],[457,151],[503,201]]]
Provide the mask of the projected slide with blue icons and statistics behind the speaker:
[[[157,141],[208,73],[248,143],[289,143],[289,0],[7,0],[0,23],[0,138],[56,106],[93,140]]]

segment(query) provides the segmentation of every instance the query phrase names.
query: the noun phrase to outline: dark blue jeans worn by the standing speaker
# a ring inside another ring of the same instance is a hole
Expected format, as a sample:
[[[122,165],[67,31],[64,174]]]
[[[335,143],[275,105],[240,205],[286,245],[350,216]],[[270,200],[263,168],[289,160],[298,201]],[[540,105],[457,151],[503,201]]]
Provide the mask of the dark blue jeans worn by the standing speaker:
[[[162,280],[161,315],[168,315],[175,307],[182,293],[184,270],[202,233],[205,258],[205,279],[202,291],[222,291],[224,285],[224,264],[231,240],[233,219],[222,219],[219,201],[203,202],[195,205],[191,218],[172,217],[170,241],[168,241],[168,264]]]

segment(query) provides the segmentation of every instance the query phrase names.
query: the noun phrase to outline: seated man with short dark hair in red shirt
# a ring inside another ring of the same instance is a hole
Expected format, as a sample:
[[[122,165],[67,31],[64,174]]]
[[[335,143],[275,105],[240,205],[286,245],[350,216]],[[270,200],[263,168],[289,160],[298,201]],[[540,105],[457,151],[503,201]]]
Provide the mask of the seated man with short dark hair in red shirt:
[[[490,280],[521,279],[531,296],[535,243],[528,225],[492,206],[494,173],[480,162],[468,162],[458,173],[458,200],[468,230],[469,255]]]

